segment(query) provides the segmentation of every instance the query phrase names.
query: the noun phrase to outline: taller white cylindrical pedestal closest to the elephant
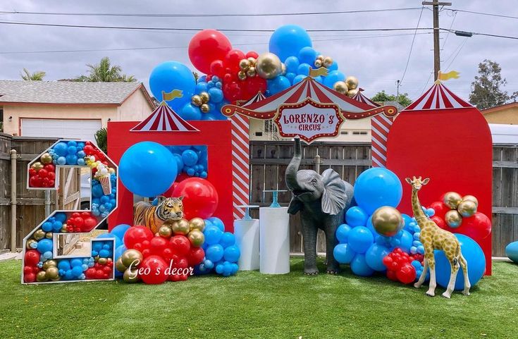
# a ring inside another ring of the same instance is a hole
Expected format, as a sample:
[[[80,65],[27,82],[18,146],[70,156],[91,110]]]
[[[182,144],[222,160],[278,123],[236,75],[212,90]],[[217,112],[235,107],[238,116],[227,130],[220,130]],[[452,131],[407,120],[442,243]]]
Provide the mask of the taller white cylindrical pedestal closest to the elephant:
[[[288,207],[259,209],[259,271],[290,273],[290,215]]]

